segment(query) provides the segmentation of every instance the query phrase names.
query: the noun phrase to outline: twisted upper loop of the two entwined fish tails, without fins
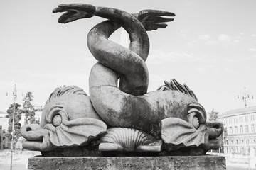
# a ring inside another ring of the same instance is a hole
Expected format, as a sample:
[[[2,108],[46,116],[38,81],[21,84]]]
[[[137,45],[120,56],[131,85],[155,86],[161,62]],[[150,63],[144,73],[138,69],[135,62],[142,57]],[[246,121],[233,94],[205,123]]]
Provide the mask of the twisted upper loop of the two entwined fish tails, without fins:
[[[95,16],[111,21],[99,23],[90,30],[87,36],[90,52],[100,64],[119,74],[121,91],[135,96],[146,94],[149,84],[149,73],[145,64],[149,53],[146,30],[137,18],[118,9],[98,7]],[[129,49],[108,40],[120,26],[129,33]]]

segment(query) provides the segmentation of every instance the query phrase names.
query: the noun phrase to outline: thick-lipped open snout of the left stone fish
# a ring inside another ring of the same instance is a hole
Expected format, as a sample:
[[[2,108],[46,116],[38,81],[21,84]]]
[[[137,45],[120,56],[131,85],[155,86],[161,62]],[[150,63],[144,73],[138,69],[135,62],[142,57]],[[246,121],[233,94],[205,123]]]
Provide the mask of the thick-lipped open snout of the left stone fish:
[[[22,144],[24,149],[48,151],[54,147],[50,142],[49,130],[41,128],[38,124],[23,125],[21,135],[27,140]]]

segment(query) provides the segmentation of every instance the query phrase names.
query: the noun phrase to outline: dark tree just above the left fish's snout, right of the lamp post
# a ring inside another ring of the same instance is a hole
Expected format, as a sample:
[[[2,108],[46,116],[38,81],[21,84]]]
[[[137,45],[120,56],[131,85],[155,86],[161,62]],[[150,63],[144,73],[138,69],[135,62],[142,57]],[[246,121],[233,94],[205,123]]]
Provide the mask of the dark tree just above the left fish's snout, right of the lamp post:
[[[21,109],[21,114],[25,115],[25,124],[36,123],[35,108],[31,103],[32,100],[32,92],[28,91],[26,96],[23,98],[23,108]]]

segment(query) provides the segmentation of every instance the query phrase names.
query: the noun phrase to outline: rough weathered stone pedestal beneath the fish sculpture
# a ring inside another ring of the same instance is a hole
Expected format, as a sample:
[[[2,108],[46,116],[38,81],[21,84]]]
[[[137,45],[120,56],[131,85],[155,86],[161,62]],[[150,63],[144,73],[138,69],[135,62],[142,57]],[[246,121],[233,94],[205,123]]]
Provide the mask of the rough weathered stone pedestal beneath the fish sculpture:
[[[31,169],[226,169],[225,157],[203,155],[182,157],[31,157]]]

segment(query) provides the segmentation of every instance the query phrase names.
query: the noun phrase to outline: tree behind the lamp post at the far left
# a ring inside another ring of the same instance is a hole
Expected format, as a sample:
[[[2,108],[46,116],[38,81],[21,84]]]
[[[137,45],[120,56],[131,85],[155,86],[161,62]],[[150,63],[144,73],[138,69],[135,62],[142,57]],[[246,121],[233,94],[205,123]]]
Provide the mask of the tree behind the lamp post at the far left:
[[[9,141],[11,141],[11,134],[12,134],[12,125],[13,125],[13,114],[14,114],[14,140],[17,141],[19,137],[21,137],[21,123],[19,121],[21,120],[21,111],[20,108],[21,105],[18,103],[11,104],[11,106],[8,108],[7,113],[9,115],[9,126],[8,126],[8,132],[6,133],[6,137],[8,137]],[[15,110],[14,110],[15,108]]]

